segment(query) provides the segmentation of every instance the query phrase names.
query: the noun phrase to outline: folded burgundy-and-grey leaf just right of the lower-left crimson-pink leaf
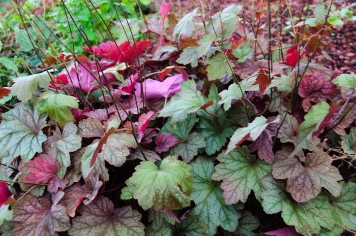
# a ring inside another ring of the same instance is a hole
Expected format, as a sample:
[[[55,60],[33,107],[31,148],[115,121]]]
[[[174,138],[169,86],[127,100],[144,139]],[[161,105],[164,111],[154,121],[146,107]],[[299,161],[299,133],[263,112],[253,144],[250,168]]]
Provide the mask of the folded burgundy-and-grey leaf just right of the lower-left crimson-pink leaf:
[[[70,217],[75,216],[75,212],[81,202],[86,198],[84,205],[90,204],[97,196],[103,182],[99,181],[99,175],[91,173],[85,180],[84,185],[74,183],[72,186],[64,190],[64,197],[60,200],[59,204],[66,208],[66,214]]]

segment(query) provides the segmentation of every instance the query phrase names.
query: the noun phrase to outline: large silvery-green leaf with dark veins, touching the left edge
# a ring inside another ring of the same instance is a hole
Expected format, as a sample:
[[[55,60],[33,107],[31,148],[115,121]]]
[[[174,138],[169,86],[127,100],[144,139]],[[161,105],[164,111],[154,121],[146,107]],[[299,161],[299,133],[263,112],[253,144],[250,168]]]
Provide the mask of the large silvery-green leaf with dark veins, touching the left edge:
[[[42,152],[42,143],[47,139],[42,132],[47,126],[46,114],[41,115],[31,104],[19,104],[2,116],[0,157],[3,164],[10,164],[18,155],[27,162],[36,152]]]

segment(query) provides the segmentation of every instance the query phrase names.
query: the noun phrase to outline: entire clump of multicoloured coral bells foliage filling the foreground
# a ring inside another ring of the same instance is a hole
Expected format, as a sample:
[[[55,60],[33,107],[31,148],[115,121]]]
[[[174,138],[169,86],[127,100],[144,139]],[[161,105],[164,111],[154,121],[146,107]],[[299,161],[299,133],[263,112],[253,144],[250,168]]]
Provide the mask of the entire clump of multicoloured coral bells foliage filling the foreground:
[[[252,22],[170,9],[141,22],[150,40],[0,89],[2,235],[252,236],[266,214],[286,224],[268,235],[355,231],[356,76],[324,63],[327,11],[289,48],[265,39],[266,1]]]

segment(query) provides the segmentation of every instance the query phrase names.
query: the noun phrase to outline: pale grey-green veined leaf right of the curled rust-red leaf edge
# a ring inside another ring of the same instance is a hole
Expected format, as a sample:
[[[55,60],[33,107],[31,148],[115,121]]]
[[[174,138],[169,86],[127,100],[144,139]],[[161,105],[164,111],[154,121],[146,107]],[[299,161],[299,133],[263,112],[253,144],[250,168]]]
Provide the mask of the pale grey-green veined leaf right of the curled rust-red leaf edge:
[[[103,151],[99,153],[103,159],[114,166],[125,163],[126,157],[130,155],[130,148],[137,147],[135,138],[131,133],[112,133],[103,145]]]

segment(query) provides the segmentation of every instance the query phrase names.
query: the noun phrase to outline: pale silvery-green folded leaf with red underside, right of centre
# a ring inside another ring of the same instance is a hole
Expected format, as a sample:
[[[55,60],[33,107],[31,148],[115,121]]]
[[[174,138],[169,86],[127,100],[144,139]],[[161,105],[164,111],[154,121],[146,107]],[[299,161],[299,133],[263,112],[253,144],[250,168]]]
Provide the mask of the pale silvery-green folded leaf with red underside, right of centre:
[[[271,122],[267,122],[266,118],[259,116],[256,117],[251,123],[248,123],[247,127],[236,129],[230,138],[230,143],[227,146],[226,153],[229,153],[232,149],[239,146],[249,137],[255,141],[269,124],[277,122],[279,122],[279,116]]]

